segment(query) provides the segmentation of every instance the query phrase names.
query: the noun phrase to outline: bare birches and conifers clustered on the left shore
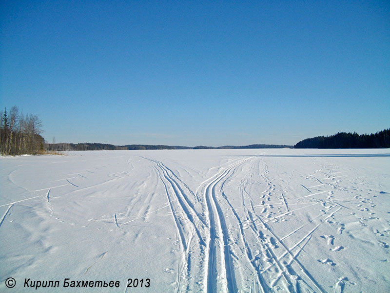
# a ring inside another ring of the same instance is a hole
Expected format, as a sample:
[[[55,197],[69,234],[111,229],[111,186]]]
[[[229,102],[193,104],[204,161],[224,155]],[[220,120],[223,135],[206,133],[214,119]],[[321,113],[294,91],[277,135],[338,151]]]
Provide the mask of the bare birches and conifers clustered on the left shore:
[[[17,106],[1,115],[0,153],[3,155],[37,154],[43,150],[42,122],[37,115],[23,114]]]

